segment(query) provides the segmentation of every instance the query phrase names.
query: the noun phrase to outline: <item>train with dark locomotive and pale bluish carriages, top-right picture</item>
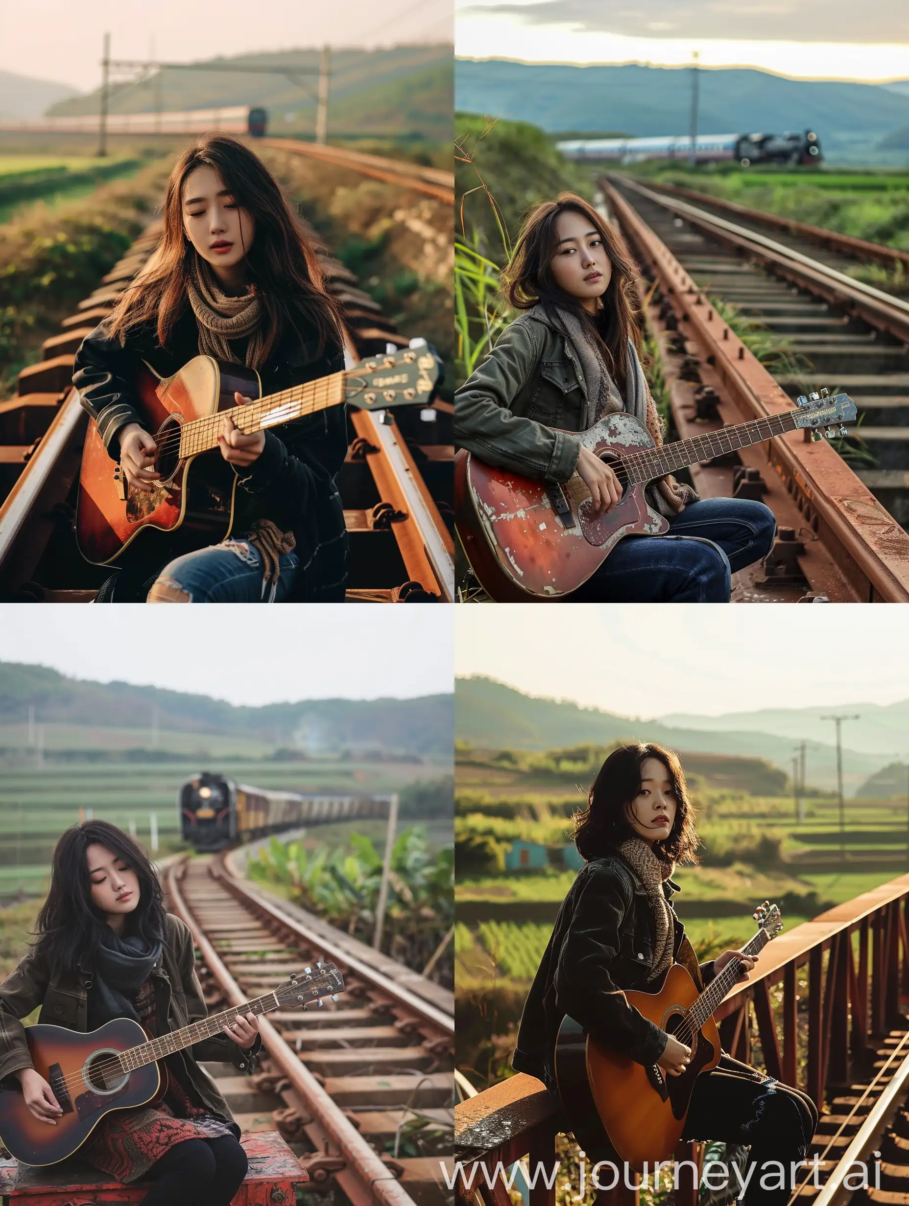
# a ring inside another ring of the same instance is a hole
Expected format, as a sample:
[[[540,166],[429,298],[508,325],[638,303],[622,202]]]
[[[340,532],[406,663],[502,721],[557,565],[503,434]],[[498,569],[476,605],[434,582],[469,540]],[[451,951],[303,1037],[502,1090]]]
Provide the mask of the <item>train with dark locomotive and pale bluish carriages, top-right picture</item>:
[[[640,163],[643,159],[692,159],[687,134],[653,139],[571,139],[555,144],[566,159]],[[698,163],[740,163],[742,168],[769,163],[806,166],[823,163],[821,142],[814,130],[785,134],[699,134],[694,140]]]

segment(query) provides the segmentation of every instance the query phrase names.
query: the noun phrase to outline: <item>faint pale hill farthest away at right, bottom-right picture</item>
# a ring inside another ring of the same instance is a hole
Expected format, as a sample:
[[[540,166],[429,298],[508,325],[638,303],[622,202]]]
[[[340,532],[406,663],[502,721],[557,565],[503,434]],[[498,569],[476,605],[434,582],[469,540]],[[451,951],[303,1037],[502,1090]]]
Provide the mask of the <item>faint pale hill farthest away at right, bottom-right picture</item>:
[[[759,712],[730,712],[723,716],[697,716],[676,712],[659,719],[664,725],[684,725],[707,732],[740,731],[773,733],[793,742],[803,739],[833,744],[834,726],[823,716],[860,716],[843,725],[843,739],[853,750],[892,756],[907,747],[909,699],[881,707],[876,703],[845,703],[835,708],[762,708]]]

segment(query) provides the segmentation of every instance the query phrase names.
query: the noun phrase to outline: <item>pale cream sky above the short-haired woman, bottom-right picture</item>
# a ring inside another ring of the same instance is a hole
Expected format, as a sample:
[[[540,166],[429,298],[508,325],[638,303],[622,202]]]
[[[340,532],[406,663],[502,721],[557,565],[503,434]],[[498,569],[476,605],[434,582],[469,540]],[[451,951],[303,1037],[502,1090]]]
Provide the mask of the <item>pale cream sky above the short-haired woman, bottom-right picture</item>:
[[[517,603],[459,607],[455,625],[456,674],[625,716],[909,697],[905,607]]]

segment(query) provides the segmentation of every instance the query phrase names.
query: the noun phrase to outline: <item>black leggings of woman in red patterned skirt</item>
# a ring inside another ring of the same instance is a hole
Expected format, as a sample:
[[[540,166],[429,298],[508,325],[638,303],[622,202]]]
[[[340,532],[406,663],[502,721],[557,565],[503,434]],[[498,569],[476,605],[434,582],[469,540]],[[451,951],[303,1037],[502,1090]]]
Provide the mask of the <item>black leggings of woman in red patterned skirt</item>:
[[[233,1137],[187,1138],[145,1175],[155,1181],[142,1206],[231,1206],[246,1176],[246,1153]]]

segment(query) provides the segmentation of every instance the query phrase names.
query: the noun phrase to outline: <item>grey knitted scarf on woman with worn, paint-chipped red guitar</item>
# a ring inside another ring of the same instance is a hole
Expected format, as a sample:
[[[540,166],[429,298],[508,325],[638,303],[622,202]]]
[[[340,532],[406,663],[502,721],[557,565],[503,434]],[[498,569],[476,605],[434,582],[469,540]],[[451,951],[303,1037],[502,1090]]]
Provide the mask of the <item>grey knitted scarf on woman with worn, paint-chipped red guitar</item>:
[[[630,340],[628,343],[628,373],[625,374],[625,397],[623,398],[606,365],[600,341],[592,330],[590,323],[582,320],[573,310],[566,310],[561,306],[555,310],[555,317],[557,326],[561,328],[561,333],[570,341],[584,376],[588,427],[599,423],[605,415],[624,410],[647,428],[653,443],[659,446],[663,443],[663,425],[651,391],[647,388],[647,381],[634,344]],[[646,493],[651,507],[654,507],[665,519],[677,515],[686,503],[698,497],[689,486],[683,486],[671,474],[651,482]]]

